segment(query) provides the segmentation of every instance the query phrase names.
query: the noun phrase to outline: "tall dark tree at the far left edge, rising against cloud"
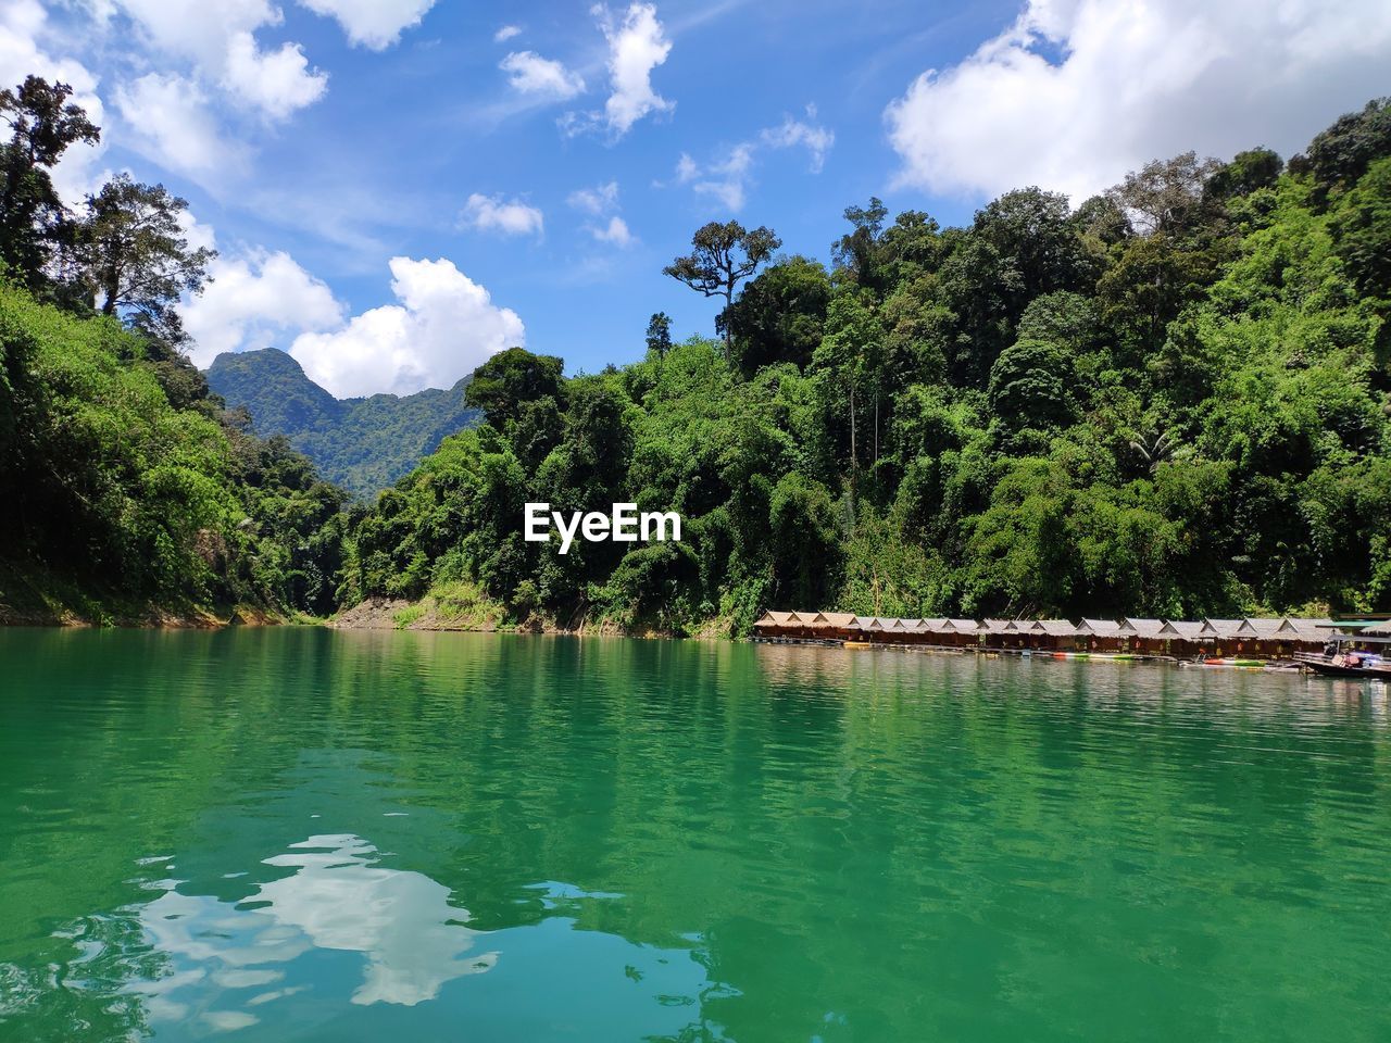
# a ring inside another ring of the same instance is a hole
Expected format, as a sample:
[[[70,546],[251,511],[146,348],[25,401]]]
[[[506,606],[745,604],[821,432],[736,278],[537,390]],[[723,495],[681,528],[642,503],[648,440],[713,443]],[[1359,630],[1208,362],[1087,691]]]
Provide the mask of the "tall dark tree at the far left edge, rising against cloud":
[[[71,221],[49,171],[70,145],[96,142],[102,131],[72,88],[28,76],[0,90],[0,120],[10,140],[0,145],[0,264],[15,270],[31,289],[43,285],[54,253],[71,238]]]

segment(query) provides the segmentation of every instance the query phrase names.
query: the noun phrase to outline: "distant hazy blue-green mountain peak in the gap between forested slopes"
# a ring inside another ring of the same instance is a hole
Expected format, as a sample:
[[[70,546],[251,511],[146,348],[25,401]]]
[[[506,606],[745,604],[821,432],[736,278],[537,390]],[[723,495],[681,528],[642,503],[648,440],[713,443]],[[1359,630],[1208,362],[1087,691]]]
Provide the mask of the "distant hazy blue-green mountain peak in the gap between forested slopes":
[[[479,410],[463,403],[469,380],[448,391],[337,399],[275,348],[224,352],[207,370],[209,387],[230,407],[245,406],[259,435],[285,435],[324,478],[359,499],[371,499],[445,435],[479,421]]]

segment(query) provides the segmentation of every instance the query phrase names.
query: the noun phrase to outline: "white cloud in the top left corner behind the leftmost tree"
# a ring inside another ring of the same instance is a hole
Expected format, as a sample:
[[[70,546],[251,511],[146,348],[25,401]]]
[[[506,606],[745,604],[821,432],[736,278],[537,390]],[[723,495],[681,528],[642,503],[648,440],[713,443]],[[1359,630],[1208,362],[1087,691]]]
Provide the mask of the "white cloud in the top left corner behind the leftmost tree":
[[[47,15],[38,0],[6,0],[0,4],[0,89],[14,88],[33,74],[49,82],[72,88],[71,102],[82,106],[99,127],[106,118],[97,97],[97,78],[79,61],[49,54],[39,38],[46,31]],[[104,142],[74,145],[53,171],[53,184],[70,204],[77,204],[102,181],[97,163],[106,150]]]

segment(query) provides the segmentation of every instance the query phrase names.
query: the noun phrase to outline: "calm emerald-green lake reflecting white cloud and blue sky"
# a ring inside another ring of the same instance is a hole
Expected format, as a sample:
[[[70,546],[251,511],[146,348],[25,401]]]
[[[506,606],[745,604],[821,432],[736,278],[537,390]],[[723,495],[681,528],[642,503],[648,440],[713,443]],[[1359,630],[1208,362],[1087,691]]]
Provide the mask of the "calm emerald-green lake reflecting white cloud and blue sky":
[[[0,631],[4,1040],[1391,1039],[1384,690]]]

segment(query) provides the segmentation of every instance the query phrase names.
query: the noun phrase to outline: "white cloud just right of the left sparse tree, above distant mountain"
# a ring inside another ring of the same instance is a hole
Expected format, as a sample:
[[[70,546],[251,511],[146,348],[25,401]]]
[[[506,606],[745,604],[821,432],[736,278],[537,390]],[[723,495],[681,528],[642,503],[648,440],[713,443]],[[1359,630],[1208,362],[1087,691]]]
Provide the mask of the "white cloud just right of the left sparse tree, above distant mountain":
[[[196,221],[185,234],[195,246],[213,242],[211,229]],[[223,352],[271,348],[292,334],[342,325],[344,309],[332,291],[288,253],[217,257],[207,274],[211,282],[202,295],[179,306],[195,366],[206,369]]]

